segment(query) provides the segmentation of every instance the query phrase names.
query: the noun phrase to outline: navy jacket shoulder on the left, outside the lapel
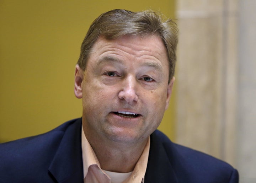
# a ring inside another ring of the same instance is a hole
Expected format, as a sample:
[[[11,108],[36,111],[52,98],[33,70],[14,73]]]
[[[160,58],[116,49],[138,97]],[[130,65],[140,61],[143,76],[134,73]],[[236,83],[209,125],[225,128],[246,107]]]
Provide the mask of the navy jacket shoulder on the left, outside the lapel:
[[[14,178],[11,174],[15,177],[34,177],[33,174],[40,171],[38,177],[42,174],[47,177],[63,135],[70,128],[81,125],[79,120],[70,120],[44,134],[0,144],[0,179]]]

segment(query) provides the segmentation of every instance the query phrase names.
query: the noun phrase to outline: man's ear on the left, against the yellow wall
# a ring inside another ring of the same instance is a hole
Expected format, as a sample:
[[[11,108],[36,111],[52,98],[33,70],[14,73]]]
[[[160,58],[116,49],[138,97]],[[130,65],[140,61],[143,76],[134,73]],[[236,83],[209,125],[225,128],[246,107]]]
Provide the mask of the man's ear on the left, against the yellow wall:
[[[75,88],[74,93],[76,98],[82,98],[82,80],[84,79],[84,71],[76,64],[75,68]]]

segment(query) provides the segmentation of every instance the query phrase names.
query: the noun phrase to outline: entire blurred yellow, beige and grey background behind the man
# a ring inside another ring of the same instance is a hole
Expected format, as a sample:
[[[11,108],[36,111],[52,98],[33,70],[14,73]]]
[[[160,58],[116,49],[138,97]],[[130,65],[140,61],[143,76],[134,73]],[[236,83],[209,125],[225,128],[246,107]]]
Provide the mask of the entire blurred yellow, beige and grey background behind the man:
[[[0,0],[0,142],[81,117],[74,71],[91,22],[160,10],[180,29],[176,83],[159,127],[256,182],[255,0]]]

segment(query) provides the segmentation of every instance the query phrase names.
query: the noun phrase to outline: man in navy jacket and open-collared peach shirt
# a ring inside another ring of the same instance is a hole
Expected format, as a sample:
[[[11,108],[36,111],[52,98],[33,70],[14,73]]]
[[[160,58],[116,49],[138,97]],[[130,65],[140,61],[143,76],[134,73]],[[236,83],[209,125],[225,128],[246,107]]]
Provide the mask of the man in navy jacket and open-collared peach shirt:
[[[0,182],[238,182],[227,163],[156,130],[174,84],[177,28],[153,11],[112,10],[82,43],[82,118],[0,146]]]

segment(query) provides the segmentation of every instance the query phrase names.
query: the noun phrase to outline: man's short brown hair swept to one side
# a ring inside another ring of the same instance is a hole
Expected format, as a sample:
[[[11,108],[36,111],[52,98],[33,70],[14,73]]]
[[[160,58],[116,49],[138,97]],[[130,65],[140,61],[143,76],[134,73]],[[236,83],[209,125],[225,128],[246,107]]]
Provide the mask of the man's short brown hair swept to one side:
[[[146,37],[150,34],[159,36],[166,47],[170,82],[175,70],[178,29],[172,20],[164,21],[161,15],[151,10],[132,12],[116,9],[96,18],[82,42],[78,65],[85,70],[92,46],[100,36],[117,39],[125,35]]]

